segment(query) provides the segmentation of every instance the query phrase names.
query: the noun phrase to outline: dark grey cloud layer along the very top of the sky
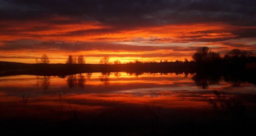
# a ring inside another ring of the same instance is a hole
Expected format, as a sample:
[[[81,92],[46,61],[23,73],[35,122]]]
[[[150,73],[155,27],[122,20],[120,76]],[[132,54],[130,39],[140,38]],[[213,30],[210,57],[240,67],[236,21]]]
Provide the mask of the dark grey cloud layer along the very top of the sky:
[[[1,0],[0,4],[3,5],[0,7],[1,19],[22,20],[60,15],[99,21],[116,27],[213,21],[237,25],[256,24],[256,2],[250,0]]]

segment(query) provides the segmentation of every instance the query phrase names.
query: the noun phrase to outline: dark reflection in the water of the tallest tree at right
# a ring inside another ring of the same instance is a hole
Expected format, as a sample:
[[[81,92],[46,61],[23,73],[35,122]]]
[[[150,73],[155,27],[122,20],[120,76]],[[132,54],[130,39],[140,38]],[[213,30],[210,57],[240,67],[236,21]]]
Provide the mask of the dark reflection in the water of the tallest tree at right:
[[[202,88],[202,89],[208,89],[210,85],[219,85],[219,81],[221,79],[221,76],[218,74],[200,74],[196,73],[192,79],[194,80],[195,84]]]

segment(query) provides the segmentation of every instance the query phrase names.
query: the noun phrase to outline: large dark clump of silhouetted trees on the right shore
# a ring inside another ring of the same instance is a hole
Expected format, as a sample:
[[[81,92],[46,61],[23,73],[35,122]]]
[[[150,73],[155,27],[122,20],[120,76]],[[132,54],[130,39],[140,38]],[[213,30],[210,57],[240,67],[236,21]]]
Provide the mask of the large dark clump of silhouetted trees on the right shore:
[[[236,71],[256,68],[253,52],[240,49],[232,49],[221,57],[218,52],[211,51],[208,47],[199,47],[192,58],[196,62],[197,70]]]

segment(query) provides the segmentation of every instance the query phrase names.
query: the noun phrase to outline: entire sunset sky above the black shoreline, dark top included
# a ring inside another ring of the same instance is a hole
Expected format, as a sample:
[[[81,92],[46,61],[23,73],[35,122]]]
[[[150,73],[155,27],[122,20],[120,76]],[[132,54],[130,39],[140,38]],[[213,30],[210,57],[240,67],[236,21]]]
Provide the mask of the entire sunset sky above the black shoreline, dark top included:
[[[121,63],[191,60],[199,46],[256,53],[256,1],[0,0],[0,61],[83,55]]]

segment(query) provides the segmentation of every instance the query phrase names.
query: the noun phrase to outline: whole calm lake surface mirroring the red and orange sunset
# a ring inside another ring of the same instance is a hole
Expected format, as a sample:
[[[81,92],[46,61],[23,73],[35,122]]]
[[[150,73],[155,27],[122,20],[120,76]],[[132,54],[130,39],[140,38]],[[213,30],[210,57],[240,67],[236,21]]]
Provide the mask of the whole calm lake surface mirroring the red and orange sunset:
[[[256,86],[196,74],[0,77],[0,135],[254,135]]]

